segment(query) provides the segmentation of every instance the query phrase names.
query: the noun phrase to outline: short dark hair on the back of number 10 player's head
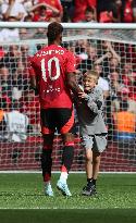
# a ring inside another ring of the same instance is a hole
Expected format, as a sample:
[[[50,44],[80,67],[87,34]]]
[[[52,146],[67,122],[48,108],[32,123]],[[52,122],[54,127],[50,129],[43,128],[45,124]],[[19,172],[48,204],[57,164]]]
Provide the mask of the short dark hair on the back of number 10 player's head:
[[[63,33],[63,26],[58,22],[52,22],[48,25],[47,37],[50,42],[54,41],[57,37]]]

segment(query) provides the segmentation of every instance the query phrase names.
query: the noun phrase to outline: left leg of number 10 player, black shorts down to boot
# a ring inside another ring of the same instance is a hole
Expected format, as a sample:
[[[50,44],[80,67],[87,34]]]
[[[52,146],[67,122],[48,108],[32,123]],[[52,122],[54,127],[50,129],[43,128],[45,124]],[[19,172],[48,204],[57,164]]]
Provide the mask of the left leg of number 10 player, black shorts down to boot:
[[[54,137],[54,127],[51,110],[41,110],[41,133],[44,138],[42,153],[41,153],[41,170],[45,184],[45,194],[53,196],[51,188],[51,168],[52,168],[52,146]]]

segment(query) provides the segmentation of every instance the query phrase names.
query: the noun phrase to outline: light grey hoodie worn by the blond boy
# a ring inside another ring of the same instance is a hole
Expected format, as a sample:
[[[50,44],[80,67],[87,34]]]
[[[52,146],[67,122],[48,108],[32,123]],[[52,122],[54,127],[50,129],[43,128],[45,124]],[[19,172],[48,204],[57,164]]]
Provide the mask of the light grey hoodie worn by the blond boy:
[[[82,102],[75,99],[75,108],[79,122],[79,133],[84,135],[97,135],[107,133],[103,117],[103,94],[102,89],[96,86]]]

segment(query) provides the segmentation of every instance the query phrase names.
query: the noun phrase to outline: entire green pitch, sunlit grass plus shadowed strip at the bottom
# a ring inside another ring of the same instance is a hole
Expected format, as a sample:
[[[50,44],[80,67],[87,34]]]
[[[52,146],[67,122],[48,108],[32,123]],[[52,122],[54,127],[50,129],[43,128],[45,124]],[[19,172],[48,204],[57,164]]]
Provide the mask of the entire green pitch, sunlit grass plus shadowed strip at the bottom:
[[[65,218],[66,223],[75,223],[76,220],[90,222],[90,215],[92,223],[98,220],[107,223],[109,218],[111,223],[136,221],[136,174],[100,174],[97,197],[81,196],[86,183],[85,174],[70,174],[71,198],[57,190],[58,177],[59,174],[52,174],[55,196],[50,198],[44,195],[41,174],[0,174],[1,223],[12,223],[17,218],[18,222],[28,223],[42,222],[40,220],[46,218],[45,221],[51,223],[51,216],[55,222],[60,216],[60,223],[65,222]]]

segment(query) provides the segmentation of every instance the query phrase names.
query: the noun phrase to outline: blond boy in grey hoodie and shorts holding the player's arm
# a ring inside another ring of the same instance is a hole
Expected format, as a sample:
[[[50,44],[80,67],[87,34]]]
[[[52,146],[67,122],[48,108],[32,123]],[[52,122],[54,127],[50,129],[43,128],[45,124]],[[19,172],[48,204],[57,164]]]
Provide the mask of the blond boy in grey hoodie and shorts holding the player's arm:
[[[79,134],[86,157],[87,185],[82,195],[92,196],[96,191],[96,181],[99,173],[100,156],[107,147],[107,126],[102,113],[103,94],[97,86],[98,74],[87,71],[83,77],[83,91],[75,100]]]

